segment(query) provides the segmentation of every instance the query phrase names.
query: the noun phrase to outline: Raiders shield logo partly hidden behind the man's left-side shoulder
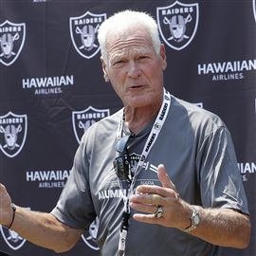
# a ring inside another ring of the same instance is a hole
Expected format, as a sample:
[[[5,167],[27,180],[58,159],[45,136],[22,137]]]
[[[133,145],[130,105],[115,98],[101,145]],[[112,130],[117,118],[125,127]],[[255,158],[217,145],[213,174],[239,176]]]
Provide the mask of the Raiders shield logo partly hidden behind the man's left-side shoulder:
[[[109,113],[109,109],[97,109],[92,106],[82,111],[73,111],[73,130],[78,142],[80,143],[82,135],[92,124],[108,117]]]

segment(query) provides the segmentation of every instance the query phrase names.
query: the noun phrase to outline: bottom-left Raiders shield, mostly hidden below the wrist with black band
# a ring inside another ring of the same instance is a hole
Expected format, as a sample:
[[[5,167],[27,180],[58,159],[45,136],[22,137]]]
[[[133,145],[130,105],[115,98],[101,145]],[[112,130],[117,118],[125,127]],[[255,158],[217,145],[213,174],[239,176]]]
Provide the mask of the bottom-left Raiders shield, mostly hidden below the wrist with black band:
[[[18,233],[11,229],[4,228],[0,226],[2,236],[6,241],[7,245],[12,249],[19,249],[24,245],[26,239],[22,238]]]

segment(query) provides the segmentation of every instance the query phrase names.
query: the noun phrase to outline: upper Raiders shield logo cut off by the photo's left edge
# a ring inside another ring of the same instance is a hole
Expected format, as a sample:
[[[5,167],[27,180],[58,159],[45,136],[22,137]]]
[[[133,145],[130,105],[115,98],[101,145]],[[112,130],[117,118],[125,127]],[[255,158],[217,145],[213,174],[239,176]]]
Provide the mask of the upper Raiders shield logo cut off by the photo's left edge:
[[[8,20],[0,24],[0,63],[13,64],[21,53],[26,37],[25,23]]]

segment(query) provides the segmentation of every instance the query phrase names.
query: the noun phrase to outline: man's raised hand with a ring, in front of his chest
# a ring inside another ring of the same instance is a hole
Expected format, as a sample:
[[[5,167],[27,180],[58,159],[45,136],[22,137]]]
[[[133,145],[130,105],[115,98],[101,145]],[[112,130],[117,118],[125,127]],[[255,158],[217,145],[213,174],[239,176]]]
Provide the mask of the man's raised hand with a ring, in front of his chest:
[[[143,213],[135,213],[134,219],[149,224],[160,224],[165,227],[186,229],[191,225],[192,208],[179,197],[173,181],[168,176],[165,167],[157,167],[160,186],[137,186],[137,193],[132,195],[130,206]],[[157,218],[155,212],[160,207],[162,216]]]

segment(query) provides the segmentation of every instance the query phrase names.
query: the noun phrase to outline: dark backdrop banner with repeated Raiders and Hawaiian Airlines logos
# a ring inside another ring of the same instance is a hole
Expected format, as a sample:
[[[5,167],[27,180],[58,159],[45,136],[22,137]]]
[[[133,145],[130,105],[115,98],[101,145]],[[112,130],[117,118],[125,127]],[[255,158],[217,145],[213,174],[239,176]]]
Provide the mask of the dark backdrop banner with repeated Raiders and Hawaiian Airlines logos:
[[[98,27],[118,10],[144,10],[155,17],[166,46],[167,89],[216,113],[229,127],[252,236],[247,249],[227,248],[225,256],[255,256],[255,5],[255,0],[0,0],[0,181],[13,202],[52,210],[83,132],[121,107],[103,80]],[[100,255],[97,227],[95,221],[63,255]],[[56,254],[3,227],[0,250]]]

